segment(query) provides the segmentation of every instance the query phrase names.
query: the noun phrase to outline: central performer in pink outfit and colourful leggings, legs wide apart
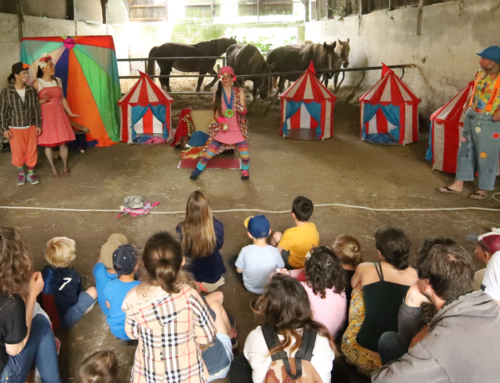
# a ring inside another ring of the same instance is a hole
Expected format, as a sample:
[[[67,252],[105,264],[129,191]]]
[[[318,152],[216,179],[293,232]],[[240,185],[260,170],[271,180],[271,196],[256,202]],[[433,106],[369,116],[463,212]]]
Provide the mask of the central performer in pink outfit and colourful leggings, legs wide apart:
[[[202,159],[191,173],[192,180],[198,179],[214,155],[234,148],[240,153],[241,179],[250,179],[245,91],[234,86],[235,81],[233,68],[225,66],[220,69],[219,85],[213,96],[214,122],[209,127],[210,138],[203,148]]]

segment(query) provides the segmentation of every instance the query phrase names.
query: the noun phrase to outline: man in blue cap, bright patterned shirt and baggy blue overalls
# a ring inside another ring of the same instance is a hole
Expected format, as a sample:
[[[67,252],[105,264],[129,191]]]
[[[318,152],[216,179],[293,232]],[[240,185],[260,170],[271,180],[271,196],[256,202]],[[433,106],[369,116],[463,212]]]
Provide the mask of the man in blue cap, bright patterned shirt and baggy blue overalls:
[[[481,53],[474,92],[465,113],[460,138],[455,182],[438,188],[440,193],[461,193],[464,181],[474,181],[478,172],[479,188],[469,196],[482,200],[494,190],[500,156],[500,47],[491,46]]]

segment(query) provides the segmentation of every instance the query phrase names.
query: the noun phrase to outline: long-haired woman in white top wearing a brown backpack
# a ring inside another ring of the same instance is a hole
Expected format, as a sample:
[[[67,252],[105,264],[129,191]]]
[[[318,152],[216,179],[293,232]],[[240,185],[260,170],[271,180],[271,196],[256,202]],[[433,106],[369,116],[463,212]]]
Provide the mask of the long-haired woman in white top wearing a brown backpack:
[[[309,298],[302,285],[287,275],[275,274],[255,307],[264,316],[265,325],[258,326],[248,335],[244,355],[238,356],[233,362],[229,380],[238,383],[264,382],[273,363],[272,355],[285,351],[289,358],[295,357],[307,334],[316,337],[310,360],[313,376],[308,376],[311,380],[307,381],[320,381],[313,380],[320,378],[323,383],[329,383],[335,345],[328,329],[312,319]],[[267,331],[277,334],[279,340],[278,346],[271,350],[264,337]],[[285,381],[284,378],[279,376],[278,381]]]

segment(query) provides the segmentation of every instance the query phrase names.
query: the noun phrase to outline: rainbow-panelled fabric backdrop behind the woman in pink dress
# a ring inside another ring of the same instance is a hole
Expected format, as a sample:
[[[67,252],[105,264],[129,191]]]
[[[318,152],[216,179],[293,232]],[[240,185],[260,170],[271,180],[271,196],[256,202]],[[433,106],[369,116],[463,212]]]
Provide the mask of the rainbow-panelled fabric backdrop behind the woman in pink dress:
[[[121,96],[115,45],[111,36],[26,37],[21,40],[21,61],[30,65],[31,83],[38,59],[52,57],[56,76],[75,114],[75,122],[89,128],[87,141],[110,146],[120,141],[117,101]]]

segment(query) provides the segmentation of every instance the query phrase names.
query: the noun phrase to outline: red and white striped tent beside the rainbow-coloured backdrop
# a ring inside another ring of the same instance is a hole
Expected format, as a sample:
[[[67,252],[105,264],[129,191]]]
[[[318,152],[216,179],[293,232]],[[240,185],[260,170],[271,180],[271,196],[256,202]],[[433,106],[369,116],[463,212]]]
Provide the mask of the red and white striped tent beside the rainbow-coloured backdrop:
[[[171,105],[174,99],[146,73],[120,100],[120,140],[133,143],[139,136],[173,138]]]

